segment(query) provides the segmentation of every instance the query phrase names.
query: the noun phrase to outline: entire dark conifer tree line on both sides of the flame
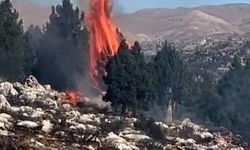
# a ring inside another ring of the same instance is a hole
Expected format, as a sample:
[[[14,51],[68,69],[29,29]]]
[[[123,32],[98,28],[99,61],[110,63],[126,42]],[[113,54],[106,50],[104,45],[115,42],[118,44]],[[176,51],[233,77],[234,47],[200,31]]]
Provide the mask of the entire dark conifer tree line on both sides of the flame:
[[[88,31],[84,13],[70,0],[52,7],[41,29],[23,29],[10,0],[0,3],[0,77],[20,81],[28,74],[59,90],[77,88],[86,76]],[[250,45],[246,45],[250,47]],[[190,117],[201,123],[225,126],[250,139],[250,62],[242,65],[235,56],[230,70],[215,81],[209,73],[189,70],[175,46],[165,42],[156,56],[147,60],[138,42],[129,47],[122,41],[109,59],[103,77],[114,111],[126,113],[152,107],[165,109],[176,103],[175,118]],[[72,80],[77,79],[77,80]]]

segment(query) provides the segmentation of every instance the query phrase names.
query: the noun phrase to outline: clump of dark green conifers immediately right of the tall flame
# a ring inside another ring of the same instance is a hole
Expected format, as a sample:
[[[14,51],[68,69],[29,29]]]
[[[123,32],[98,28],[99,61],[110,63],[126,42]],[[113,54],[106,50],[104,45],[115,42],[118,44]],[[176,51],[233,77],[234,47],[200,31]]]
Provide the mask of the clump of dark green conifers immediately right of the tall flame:
[[[136,114],[136,110],[154,105],[165,109],[171,99],[186,106],[191,102],[193,77],[175,47],[167,42],[152,61],[146,62],[138,42],[129,49],[123,41],[106,72],[104,98],[115,108],[122,106],[122,113],[128,108]]]

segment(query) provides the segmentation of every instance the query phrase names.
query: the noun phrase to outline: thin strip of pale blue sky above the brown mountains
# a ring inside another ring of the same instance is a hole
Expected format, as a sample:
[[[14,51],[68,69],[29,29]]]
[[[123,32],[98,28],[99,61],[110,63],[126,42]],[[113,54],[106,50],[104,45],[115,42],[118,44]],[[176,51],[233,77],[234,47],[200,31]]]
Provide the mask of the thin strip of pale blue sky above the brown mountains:
[[[20,0],[13,0],[20,1]],[[56,4],[61,0],[26,0],[42,4]],[[77,3],[79,0],[71,0]],[[85,1],[85,0],[82,0]],[[114,0],[118,1],[121,8],[126,12],[136,11],[141,8],[152,7],[192,7],[200,5],[215,5],[228,3],[250,3],[250,0]]]

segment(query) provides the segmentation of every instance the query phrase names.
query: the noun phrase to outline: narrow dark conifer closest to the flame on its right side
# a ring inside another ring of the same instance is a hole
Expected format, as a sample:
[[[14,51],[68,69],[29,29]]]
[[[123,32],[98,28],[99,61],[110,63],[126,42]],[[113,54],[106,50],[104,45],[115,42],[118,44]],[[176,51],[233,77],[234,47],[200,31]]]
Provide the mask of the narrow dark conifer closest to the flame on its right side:
[[[136,82],[133,69],[133,57],[128,45],[122,41],[118,54],[107,63],[107,76],[104,82],[107,85],[105,99],[111,101],[116,109],[122,105],[122,113],[127,108],[136,108]]]

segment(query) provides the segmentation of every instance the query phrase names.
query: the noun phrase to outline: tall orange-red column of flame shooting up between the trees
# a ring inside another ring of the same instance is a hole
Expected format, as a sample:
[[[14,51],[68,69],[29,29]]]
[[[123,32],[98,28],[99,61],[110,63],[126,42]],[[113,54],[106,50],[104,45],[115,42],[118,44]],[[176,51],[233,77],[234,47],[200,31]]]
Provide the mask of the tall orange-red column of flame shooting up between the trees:
[[[98,87],[96,77],[100,74],[100,63],[117,53],[119,34],[111,21],[111,1],[91,0],[87,13],[89,39],[89,76],[92,84]],[[101,68],[103,69],[103,68]],[[103,72],[102,72],[103,73]]]

